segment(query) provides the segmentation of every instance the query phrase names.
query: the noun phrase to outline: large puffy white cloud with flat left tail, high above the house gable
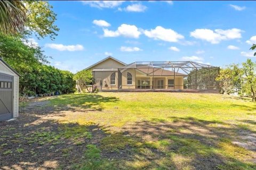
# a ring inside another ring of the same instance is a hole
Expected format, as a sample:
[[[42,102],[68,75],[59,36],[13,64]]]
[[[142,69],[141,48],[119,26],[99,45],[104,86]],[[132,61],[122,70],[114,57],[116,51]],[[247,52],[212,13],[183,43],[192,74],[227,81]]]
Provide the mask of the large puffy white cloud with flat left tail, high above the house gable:
[[[104,37],[118,37],[118,36],[124,36],[129,38],[139,38],[141,35],[141,32],[138,30],[138,28],[135,25],[128,25],[128,24],[122,24],[120,27],[117,28],[116,31],[111,31],[108,29],[103,29],[104,31]]]

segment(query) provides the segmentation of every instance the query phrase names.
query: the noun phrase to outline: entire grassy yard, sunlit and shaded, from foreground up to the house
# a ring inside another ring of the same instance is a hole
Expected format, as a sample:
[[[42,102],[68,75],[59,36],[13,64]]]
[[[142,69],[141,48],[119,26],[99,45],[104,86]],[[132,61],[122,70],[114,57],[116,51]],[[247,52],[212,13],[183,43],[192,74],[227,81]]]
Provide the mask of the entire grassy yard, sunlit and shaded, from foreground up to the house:
[[[1,168],[256,169],[256,103],[168,92],[30,100],[0,122]]]

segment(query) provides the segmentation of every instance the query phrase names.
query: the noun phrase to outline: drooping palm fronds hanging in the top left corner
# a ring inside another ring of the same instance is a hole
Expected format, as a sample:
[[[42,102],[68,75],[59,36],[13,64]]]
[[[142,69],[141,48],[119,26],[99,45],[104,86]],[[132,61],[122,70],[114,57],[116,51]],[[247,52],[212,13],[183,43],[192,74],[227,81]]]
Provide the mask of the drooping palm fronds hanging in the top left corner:
[[[7,35],[23,33],[27,10],[22,1],[0,1],[0,31]]]

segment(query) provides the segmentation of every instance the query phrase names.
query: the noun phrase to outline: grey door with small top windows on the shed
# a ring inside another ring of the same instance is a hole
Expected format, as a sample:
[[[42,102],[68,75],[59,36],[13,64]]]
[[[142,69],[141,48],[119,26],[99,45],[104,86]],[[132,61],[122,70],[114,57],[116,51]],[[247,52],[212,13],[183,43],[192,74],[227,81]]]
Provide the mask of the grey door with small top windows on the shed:
[[[13,117],[13,76],[0,73],[0,121]]]

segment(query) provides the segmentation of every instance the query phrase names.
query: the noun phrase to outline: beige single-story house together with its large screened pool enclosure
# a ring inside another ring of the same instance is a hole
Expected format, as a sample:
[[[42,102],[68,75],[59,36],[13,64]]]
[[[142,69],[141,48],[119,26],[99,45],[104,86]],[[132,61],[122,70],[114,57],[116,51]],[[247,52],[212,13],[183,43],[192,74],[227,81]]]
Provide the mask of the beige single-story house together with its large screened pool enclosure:
[[[218,92],[219,67],[192,61],[153,61],[125,64],[107,57],[89,66],[100,91],[194,91]],[[77,81],[77,90],[85,90]]]

